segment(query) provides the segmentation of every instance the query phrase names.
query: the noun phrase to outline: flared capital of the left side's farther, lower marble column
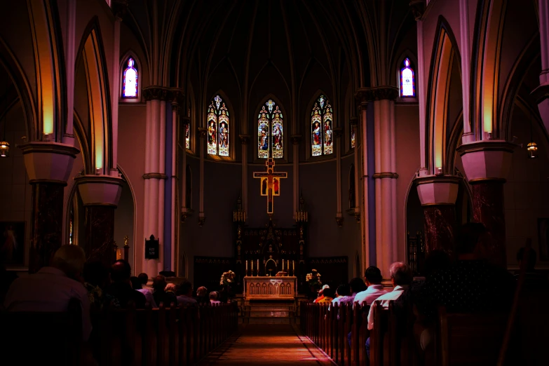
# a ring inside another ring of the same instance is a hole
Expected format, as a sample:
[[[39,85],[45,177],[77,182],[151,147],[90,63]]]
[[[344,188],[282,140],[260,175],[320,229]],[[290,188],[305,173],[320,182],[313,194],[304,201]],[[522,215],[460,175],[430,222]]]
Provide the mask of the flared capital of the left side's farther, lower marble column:
[[[110,175],[80,175],[74,178],[84,206],[116,208],[122,193],[121,177]]]

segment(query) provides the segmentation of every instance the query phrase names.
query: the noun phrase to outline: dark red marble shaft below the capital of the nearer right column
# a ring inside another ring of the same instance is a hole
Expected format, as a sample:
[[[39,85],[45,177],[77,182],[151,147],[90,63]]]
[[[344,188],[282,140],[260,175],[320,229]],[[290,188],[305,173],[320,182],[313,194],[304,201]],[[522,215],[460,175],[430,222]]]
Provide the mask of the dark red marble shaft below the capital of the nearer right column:
[[[473,194],[473,221],[482,222],[487,235],[479,240],[482,257],[506,268],[506,227],[503,207],[503,179],[490,179],[471,182]]]

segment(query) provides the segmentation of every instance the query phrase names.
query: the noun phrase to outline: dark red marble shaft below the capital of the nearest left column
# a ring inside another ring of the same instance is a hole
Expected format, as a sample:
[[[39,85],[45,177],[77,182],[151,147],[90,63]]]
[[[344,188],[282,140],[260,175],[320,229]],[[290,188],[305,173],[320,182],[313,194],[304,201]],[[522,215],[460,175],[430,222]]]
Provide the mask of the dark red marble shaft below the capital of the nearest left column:
[[[60,182],[32,184],[30,273],[48,266],[55,251],[61,246],[63,193],[66,185]]]

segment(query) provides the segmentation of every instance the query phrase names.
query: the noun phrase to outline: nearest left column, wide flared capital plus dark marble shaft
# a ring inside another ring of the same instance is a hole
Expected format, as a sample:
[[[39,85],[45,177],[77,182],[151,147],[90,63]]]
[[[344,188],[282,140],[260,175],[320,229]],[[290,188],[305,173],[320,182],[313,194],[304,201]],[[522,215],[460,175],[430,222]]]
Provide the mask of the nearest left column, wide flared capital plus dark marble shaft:
[[[48,266],[62,242],[63,194],[80,151],[70,144],[29,142],[19,146],[32,184],[29,272]]]

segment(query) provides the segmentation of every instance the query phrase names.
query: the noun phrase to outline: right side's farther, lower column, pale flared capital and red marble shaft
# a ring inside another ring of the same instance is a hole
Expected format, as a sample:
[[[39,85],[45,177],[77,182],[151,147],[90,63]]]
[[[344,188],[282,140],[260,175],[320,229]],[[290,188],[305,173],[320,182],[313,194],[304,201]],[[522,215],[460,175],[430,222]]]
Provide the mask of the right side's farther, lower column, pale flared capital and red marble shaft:
[[[425,251],[444,250],[454,255],[456,198],[461,178],[452,175],[428,175],[415,179],[423,207]]]

